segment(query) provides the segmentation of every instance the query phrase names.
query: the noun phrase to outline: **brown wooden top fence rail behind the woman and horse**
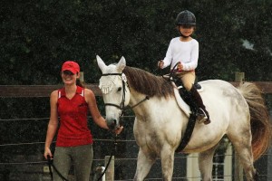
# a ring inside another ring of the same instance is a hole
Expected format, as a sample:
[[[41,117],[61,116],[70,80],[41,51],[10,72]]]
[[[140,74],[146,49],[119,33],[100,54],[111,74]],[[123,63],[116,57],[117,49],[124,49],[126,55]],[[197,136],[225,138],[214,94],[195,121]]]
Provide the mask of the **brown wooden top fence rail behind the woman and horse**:
[[[260,88],[263,93],[272,93],[272,81],[251,81]],[[229,81],[234,86],[239,85],[239,81]],[[0,97],[49,97],[53,90],[62,88],[60,85],[0,85]],[[102,92],[98,84],[86,84],[86,88],[91,89],[96,96],[101,96]]]

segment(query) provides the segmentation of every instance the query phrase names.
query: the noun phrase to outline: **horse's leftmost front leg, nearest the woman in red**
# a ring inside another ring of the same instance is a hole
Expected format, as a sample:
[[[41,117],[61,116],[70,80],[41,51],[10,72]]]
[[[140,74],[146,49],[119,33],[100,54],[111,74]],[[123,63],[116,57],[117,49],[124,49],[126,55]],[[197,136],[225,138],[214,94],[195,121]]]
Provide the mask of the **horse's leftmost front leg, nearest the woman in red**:
[[[137,169],[134,176],[135,181],[142,181],[150,172],[152,165],[156,161],[155,154],[144,154],[140,148],[137,159]]]

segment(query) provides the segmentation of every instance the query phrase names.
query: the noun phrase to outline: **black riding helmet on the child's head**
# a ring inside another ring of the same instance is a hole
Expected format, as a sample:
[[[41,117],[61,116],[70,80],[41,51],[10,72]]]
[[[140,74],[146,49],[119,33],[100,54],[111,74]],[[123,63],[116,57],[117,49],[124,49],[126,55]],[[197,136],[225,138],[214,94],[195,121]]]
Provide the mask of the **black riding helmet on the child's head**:
[[[180,12],[176,18],[176,25],[197,25],[196,16],[188,10]]]

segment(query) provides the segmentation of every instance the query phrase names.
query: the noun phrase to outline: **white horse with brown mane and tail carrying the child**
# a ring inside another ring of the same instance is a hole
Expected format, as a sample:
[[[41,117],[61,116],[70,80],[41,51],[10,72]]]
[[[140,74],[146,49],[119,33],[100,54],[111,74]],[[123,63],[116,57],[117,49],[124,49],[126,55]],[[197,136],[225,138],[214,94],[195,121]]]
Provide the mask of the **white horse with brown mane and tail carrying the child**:
[[[99,87],[106,106],[106,121],[111,129],[121,124],[126,106],[135,113],[134,137],[140,147],[134,180],[143,180],[157,157],[161,159],[163,180],[173,174],[174,153],[188,124],[169,81],[147,71],[126,66],[122,57],[107,66],[97,56],[102,71]],[[253,83],[237,89],[227,81],[200,81],[200,92],[211,123],[196,123],[184,153],[199,152],[202,180],[212,180],[212,157],[220,139],[227,135],[235,147],[248,180],[257,180],[254,160],[269,146],[271,126],[261,92]]]

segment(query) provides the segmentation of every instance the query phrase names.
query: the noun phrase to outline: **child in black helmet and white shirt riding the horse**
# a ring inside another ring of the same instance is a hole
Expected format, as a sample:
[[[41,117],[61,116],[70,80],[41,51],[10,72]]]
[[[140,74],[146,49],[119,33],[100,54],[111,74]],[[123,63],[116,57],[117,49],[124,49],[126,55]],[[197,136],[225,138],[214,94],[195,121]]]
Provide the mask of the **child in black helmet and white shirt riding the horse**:
[[[191,37],[191,34],[196,28],[196,17],[188,10],[182,11],[176,18],[176,25],[180,36],[170,41],[166,56],[164,60],[158,62],[158,66],[160,69],[169,65],[171,70],[175,68],[173,71],[176,72],[184,88],[189,92],[190,100],[193,100],[199,107],[197,112],[199,122],[209,124],[209,113],[194,86],[195,69],[199,59],[199,43]]]

